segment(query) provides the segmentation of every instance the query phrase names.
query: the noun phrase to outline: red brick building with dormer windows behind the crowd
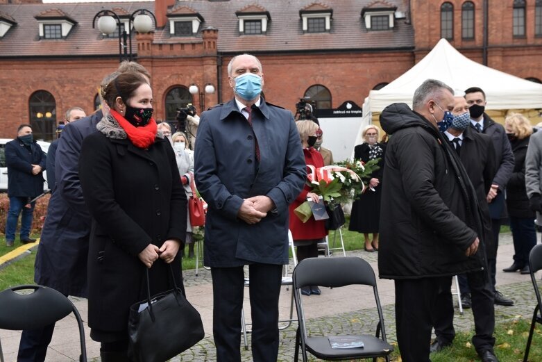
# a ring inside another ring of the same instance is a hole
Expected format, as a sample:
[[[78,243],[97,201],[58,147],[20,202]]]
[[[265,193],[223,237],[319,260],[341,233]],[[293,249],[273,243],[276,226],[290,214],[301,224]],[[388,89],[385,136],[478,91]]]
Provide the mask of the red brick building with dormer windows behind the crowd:
[[[31,123],[51,139],[67,108],[91,113],[101,79],[119,63],[118,33],[102,35],[94,15],[113,10],[128,31],[140,8],[156,24],[151,33],[131,29],[131,49],[152,75],[157,120],[173,120],[187,103],[199,110],[230,99],[227,65],[244,52],[262,61],[266,99],[292,111],[304,96],[319,108],[361,105],[441,37],[480,63],[542,79],[542,1],[0,0],[0,137]]]

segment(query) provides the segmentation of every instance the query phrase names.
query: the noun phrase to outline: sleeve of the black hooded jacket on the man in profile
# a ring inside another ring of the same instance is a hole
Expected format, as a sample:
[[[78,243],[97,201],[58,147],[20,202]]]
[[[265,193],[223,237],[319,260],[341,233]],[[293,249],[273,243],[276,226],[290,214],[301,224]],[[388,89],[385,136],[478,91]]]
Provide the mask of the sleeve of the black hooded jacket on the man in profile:
[[[434,188],[434,154],[431,145],[419,133],[409,133],[396,142],[394,154],[405,195],[419,217],[439,235],[466,250],[476,238],[476,233],[446,206]],[[413,151],[416,150],[416,151]],[[389,150],[388,150],[389,151]]]

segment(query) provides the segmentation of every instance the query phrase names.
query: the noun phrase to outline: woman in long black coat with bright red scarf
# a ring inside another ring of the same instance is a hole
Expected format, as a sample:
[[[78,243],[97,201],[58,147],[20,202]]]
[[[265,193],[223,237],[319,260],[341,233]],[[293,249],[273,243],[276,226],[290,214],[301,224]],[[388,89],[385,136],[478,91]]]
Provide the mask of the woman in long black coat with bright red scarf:
[[[102,90],[110,115],[83,141],[79,176],[92,214],[88,254],[89,326],[101,361],[128,361],[128,311],[151,295],[182,286],[180,243],[187,206],[173,149],[152,115],[151,87],[124,73]]]

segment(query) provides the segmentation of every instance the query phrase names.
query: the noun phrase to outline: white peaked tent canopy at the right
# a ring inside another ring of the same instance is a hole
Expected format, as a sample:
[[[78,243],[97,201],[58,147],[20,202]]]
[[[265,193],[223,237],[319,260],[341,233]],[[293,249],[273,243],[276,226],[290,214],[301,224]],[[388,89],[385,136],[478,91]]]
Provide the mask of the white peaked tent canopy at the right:
[[[370,123],[371,113],[382,112],[392,103],[412,106],[414,90],[425,79],[438,79],[460,92],[480,87],[486,93],[488,110],[542,108],[542,84],[476,63],[441,39],[405,74],[384,88],[369,92],[363,105],[364,121]]]

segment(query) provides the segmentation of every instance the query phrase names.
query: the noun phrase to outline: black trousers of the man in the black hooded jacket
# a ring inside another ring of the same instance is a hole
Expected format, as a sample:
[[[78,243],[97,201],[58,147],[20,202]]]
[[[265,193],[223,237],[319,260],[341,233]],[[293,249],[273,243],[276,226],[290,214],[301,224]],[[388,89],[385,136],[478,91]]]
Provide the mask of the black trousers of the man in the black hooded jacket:
[[[437,303],[441,279],[395,281],[397,342],[403,362],[430,362],[432,308]]]

